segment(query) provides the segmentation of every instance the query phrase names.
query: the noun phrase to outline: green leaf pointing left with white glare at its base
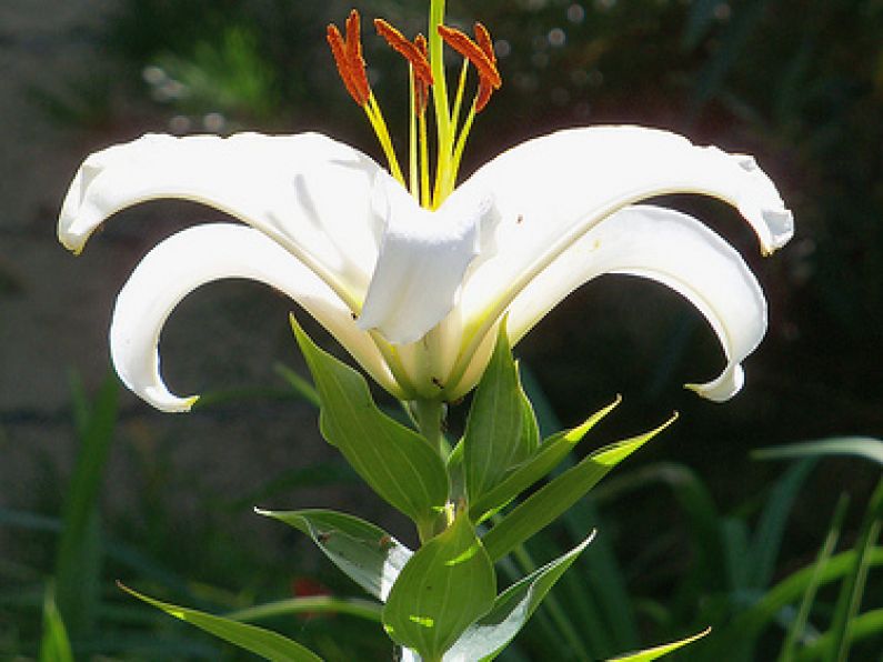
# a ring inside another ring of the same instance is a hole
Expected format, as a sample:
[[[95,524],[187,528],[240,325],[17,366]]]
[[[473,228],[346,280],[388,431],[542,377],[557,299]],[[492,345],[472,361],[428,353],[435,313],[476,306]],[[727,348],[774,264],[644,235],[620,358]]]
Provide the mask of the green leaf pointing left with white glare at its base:
[[[333,510],[265,511],[302,531],[334,565],[378,600],[385,601],[411,550],[380,526]]]

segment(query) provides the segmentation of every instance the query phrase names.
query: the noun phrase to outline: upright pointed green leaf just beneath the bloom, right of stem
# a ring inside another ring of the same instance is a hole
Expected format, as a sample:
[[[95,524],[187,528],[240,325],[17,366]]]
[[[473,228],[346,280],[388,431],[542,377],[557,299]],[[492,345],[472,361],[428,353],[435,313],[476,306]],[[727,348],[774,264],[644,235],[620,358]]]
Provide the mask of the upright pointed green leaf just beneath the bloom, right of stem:
[[[508,471],[526,460],[536,447],[538,437],[536,420],[521,389],[503,322],[493,355],[472,399],[463,434],[469,500],[481,499]]]

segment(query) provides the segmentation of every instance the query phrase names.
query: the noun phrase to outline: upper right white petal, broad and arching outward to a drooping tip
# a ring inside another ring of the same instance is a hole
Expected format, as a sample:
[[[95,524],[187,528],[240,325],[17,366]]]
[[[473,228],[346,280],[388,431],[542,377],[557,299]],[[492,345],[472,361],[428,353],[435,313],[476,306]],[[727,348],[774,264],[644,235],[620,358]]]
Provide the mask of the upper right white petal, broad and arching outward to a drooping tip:
[[[502,312],[508,297],[592,225],[654,195],[702,193],[732,203],[764,252],[793,233],[791,212],[751,158],[639,127],[573,129],[530,140],[478,170],[449,200],[475,191],[494,197],[494,250],[466,274],[468,319]]]

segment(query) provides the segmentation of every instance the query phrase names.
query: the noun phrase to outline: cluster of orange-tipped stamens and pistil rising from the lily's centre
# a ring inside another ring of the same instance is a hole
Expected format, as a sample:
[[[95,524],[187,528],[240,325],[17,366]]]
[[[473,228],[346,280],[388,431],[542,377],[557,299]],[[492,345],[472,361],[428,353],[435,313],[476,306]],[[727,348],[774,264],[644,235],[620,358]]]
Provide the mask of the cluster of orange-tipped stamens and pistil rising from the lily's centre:
[[[418,34],[413,41],[383,19],[374,19],[378,34],[408,61],[411,108],[407,180],[399,164],[380,104],[368,81],[362,56],[359,12],[354,9],[350,12],[343,34],[333,23],[328,27],[328,43],[334,56],[338,72],[350,97],[364,110],[387,157],[390,172],[425,209],[438,209],[454,190],[463,149],[475,116],[484,109],[491,94],[502,84],[500,72],[496,70],[493,42],[486,28],[476,22],[473,40],[464,32],[445,26],[443,19],[444,2],[433,0],[430,8],[429,39]],[[449,100],[444,78],[442,52],[444,43],[463,57],[453,103]],[[475,69],[478,88],[461,123],[470,64]],[[430,163],[427,122],[430,97],[438,133],[434,170]]]

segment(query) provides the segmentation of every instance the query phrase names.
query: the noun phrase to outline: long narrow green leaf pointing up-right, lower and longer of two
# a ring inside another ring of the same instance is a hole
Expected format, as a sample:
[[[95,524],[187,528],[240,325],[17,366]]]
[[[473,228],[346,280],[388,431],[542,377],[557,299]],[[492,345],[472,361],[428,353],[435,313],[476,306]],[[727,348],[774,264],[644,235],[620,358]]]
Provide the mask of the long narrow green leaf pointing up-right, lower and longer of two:
[[[531,535],[553,522],[604,478],[616,464],[668,428],[678,415],[644,434],[595,451],[515,506],[482,538],[491,559],[503,558]]]

